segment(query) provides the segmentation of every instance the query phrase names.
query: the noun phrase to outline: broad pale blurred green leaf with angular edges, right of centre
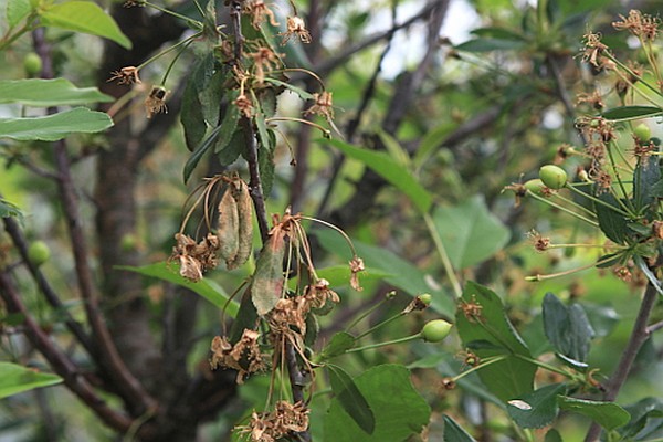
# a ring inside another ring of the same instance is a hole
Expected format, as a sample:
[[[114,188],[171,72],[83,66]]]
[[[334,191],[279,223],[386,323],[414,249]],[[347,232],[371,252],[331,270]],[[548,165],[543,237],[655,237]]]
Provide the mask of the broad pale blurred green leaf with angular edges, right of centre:
[[[457,270],[491,257],[511,236],[509,230],[488,211],[481,196],[459,206],[435,208],[433,220],[449,259]]]

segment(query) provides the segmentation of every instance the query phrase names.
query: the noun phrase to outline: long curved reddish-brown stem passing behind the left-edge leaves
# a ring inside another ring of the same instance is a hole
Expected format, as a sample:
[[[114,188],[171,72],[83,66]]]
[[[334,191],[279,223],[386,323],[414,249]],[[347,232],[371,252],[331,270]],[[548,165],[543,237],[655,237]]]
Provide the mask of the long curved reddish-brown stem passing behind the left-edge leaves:
[[[49,44],[44,39],[43,29],[33,32],[34,48],[43,61],[43,76],[52,76],[52,60]],[[56,108],[49,108],[49,114],[56,113]],[[74,266],[78,282],[81,297],[84,301],[87,320],[98,348],[99,365],[108,368],[108,375],[115,381],[117,391],[125,399],[129,408],[137,414],[156,407],[156,401],[145,391],[140,382],[129,372],[124,360],[117,352],[110,333],[99,313],[98,298],[94,287],[92,270],[87,255],[87,241],[81,224],[76,189],[71,175],[71,165],[66,144],[64,140],[54,143],[55,168],[59,173],[61,202],[66,221],[70,243],[74,254]]]

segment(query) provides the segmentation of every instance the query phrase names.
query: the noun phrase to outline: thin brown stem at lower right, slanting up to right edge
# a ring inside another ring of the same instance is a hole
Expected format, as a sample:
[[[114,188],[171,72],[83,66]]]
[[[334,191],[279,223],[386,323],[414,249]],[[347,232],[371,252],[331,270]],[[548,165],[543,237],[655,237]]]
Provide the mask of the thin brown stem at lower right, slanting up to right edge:
[[[653,286],[652,283],[646,285],[644,291],[644,296],[642,297],[642,303],[640,304],[640,311],[638,312],[638,316],[635,317],[635,324],[633,324],[633,330],[631,332],[631,336],[629,338],[629,343],[627,344],[627,348],[624,348],[619,365],[610,380],[606,386],[606,391],[603,393],[603,400],[607,402],[612,402],[617,399],[617,394],[619,390],[622,388],[624,382],[629,377],[629,372],[633,367],[633,362],[635,361],[635,357],[638,356],[638,351],[642,345],[650,337],[650,329],[646,326],[649,317],[656,304],[656,299],[659,298],[659,292]],[[585,442],[593,442],[599,439],[601,433],[601,427],[598,423],[592,423],[585,436]]]

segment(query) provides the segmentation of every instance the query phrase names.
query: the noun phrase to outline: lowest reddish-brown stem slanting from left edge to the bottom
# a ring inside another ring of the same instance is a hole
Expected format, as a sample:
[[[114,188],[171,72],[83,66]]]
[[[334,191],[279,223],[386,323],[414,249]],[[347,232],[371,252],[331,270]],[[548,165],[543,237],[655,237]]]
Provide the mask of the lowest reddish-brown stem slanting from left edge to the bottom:
[[[30,312],[21,302],[21,296],[6,272],[0,272],[0,296],[7,309],[23,317],[23,329],[30,343],[49,361],[53,371],[63,378],[65,386],[73,391],[94,413],[108,427],[120,432],[127,432],[134,421],[117,412],[94,391],[90,382],[81,376],[77,367],[49,338],[44,330],[32,319]],[[148,439],[154,429],[146,424],[138,430],[138,435]]]

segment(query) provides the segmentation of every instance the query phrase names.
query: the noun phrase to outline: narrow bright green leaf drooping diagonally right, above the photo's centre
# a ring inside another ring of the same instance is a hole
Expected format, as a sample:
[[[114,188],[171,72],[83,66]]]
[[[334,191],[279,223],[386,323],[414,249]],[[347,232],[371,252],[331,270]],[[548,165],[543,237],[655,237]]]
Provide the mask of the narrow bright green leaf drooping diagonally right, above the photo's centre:
[[[433,197],[419,183],[419,181],[417,181],[408,169],[399,165],[388,154],[362,149],[338,139],[330,139],[327,140],[327,143],[332,144],[348,157],[364,162],[367,167],[408,196],[421,213],[428,213]]]

